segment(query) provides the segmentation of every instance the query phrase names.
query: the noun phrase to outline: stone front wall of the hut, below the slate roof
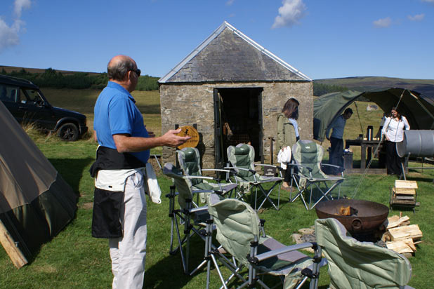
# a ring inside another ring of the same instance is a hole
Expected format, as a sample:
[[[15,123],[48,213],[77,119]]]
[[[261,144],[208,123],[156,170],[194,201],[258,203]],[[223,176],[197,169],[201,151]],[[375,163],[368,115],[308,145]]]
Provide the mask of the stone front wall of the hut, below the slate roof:
[[[263,88],[263,149],[265,163],[270,162],[270,140],[276,138],[277,114],[282,111],[289,98],[300,102],[298,126],[301,139],[313,138],[313,83],[312,82],[275,82],[275,83],[163,83],[159,88],[162,114],[162,133],[179,126],[197,124],[200,141],[198,149],[202,155],[202,168],[214,168],[214,88]],[[175,150],[164,147],[162,161],[176,162]],[[274,146],[275,150],[275,146]],[[277,152],[274,152],[276,161]]]

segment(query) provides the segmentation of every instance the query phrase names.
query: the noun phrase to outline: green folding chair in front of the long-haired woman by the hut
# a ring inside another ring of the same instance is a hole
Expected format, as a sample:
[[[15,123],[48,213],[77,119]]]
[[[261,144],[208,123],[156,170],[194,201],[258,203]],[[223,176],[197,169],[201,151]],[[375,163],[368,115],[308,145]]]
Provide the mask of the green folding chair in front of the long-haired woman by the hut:
[[[298,168],[298,173],[294,174],[291,180],[291,184],[294,181],[298,188],[298,193],[291,199],[294,202],[298,197],[303,201],[306,210],[311,210],[317,203],[322,199],[333,199],[331,196],[331,191],[338,187],[341,182],[343,182],[343,173],[341,176],[326,175],[321,170],[321,166],[331,166],[339,168],[338,166],[322,164],[322,156],[324,155],[324,148],[318,145],[316,142],[311,140],[298,140],[296,144],[292,147],[292,155],[294,156],[295,164],[289,164],[289,166],[296,166]],[[333,182],[329,187],[327,182]],[[324,184],[324,187],[321,187]],[[322,194],[320,199],[318,199],[312,205],[313,187],[316,187]],[[310,198],[309,207],[305,202],[303,197],[303,192],[309,191],[310,188]],[[339,186],[338,198],[341,194]]]

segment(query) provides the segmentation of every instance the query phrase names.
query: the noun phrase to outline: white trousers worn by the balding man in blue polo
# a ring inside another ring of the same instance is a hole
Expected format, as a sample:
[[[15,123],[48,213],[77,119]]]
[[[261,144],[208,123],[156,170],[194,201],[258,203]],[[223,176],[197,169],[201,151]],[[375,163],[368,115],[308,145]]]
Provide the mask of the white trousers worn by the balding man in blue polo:
[[[124,236],[110,238],[113,289],[142,289],[146,257],[146,196],[143,173],[126,179],[121,224]]]

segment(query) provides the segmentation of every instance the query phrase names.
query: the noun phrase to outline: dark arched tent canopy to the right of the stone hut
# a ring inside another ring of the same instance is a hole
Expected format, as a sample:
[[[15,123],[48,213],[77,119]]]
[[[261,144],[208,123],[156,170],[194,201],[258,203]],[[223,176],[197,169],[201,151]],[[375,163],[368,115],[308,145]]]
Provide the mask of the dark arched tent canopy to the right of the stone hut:
[[[383,112],[398,107],[415,130],[434,129],[434,102],[420,93],[404,88],[379,88],[364,92],[347,90],[328,93],[313,102],[313,138],[322,142],[327,127],[356,100],[375,102]]]

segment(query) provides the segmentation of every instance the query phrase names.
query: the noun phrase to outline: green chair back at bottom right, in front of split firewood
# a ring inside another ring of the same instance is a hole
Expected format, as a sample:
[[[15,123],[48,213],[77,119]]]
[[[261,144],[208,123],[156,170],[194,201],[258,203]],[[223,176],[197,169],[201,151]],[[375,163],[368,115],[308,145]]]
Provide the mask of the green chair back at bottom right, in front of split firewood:
[[[412,288],[406,285],[412,276],[406,257],[357,241],[333,218],[316,220],[315,235],[329,264],[330,288]]]

